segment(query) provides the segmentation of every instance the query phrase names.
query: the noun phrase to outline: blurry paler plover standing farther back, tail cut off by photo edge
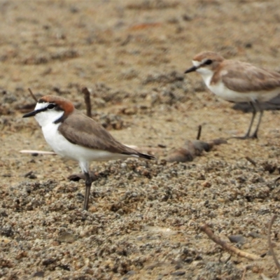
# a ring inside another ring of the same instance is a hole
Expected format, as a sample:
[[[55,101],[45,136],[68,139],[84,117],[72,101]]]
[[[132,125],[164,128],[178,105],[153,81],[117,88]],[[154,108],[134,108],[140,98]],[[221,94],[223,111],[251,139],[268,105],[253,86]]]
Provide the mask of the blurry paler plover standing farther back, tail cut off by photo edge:
[[[280,73],[265,70],[246,62],[224,59],[216,52],[200,52],[193,57],[193,67],[185,73],[197,71],[211,92],[229,102],[249,102],[253,109],[248,131],[239,139],[258,138],[263,110],[259,102],[267,102],[280,93]],[[255,132],[250,136],[255,114],[260,111]]]

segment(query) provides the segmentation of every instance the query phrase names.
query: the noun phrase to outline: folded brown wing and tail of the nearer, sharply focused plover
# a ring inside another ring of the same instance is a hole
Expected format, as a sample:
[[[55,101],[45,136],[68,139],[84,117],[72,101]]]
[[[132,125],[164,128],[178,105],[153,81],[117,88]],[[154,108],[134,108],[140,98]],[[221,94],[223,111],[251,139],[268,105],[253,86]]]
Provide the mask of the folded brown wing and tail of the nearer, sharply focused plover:
[[[141,158],[151,159],[153,156],[146,155],[129,148],[116,141],[102,125],[88,118],[78,110],[59,125],[58,131],[72,144],[86,148],[92,148],[111,153],[122,153],[125,155],[138,155]]]

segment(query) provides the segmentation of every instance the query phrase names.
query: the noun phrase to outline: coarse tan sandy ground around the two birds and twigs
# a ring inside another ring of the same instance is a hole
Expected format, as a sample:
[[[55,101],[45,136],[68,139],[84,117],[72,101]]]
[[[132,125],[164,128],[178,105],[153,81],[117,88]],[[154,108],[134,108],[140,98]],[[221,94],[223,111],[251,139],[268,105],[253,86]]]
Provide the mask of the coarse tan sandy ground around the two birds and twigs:
[[[198,125],[206,141],[244,134],[251,116],[183,71],[202,50],[279,71],[278,0],[0,1],[0,22],[1,279],[276,276],[267,226],[280,211],[279,112],[265,112],[258,140],[232,139],[193,162],[162,159]],[[35,105],[27,88],[85,111],[83,86],[96,120],[158,158],[92,163],[88,212],[84,182],[67,179],[76,162],[19,153],[50,151],[36,121],[22,119]],[[225,240],[241,235],[233,245],[261,260],[229,258],[204,223]]]

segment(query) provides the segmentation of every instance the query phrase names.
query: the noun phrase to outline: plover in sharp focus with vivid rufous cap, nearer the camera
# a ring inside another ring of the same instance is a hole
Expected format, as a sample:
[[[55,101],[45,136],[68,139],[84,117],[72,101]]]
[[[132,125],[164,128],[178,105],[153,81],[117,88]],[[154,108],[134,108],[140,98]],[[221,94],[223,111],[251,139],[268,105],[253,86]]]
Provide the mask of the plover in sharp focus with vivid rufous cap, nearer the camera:
[[[45,95],[38,100],[34,111],[23,118],[34,116],[43,130],[45,141],[62,157],[78,161],[85,174],[85,200],[88,209],[92,179],[90,162],[125,158],[146,158],[153,155],[139,153],[116,141],[102,125],[76,110],[73,103],[62,97]]]

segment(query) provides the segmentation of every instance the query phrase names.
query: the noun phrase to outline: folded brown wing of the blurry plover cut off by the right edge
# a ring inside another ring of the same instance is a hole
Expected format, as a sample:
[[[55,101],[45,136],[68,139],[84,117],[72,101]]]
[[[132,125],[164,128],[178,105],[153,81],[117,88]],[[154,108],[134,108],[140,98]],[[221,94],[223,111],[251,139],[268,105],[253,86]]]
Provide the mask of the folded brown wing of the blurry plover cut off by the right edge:
[[[262,90],[275,90],[279,87],[280,74],[255,67],[245,62],[232,64],[225,62],[225,74],[222,73],[222,80],[225,86],[236,92],[258,92]]]

